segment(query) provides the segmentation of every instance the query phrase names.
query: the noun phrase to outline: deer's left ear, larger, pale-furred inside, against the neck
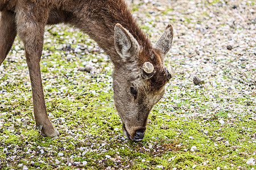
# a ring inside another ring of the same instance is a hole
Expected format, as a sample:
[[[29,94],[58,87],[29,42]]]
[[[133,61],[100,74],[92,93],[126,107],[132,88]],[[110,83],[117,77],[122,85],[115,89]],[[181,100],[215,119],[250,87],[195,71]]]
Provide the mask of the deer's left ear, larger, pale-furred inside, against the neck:
[[[135,61],[135,57],[139,53],[139,44],[135,40],[131,33],[122,27],[121,24],[115,25],[115,35],[114,35],[115,50],[122,58],[123,61]]]

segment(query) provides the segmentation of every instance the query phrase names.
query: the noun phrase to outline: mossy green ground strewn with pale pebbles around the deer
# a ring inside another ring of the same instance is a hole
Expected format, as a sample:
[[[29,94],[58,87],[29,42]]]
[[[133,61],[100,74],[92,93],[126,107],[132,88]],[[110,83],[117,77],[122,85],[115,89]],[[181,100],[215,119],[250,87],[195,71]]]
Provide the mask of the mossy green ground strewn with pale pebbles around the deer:
[[[146,137],[128,141],[112,98],[113,65],[96,42],[46,28],[41,70],[60,137],[35,130],[31,84],[17,38],[0,66],[0,169],[255,169],[255,1],[128,1],[176,77],[152,109]],[[89,71],[80,71],[84,70]],[[92,69],[92,70],[90,70]]]

